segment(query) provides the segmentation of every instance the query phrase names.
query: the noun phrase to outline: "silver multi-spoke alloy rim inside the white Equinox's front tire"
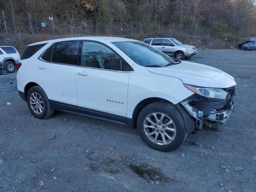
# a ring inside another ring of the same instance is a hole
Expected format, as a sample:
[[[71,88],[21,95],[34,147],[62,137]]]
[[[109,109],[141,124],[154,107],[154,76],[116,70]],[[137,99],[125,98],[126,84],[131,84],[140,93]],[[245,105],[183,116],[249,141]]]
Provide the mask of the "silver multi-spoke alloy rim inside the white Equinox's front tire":
[[[176,127],[172,119],[164,113],[149,114],[144,120],[146,136],[158,145],[170,144],[176,136]]]

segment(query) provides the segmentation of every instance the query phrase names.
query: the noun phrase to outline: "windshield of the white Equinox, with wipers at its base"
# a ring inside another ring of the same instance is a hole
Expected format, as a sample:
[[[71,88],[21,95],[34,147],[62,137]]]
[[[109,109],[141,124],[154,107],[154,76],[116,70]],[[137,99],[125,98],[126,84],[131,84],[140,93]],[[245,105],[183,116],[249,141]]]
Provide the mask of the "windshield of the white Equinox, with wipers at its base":
[[[143,42],[119,41],[112,42],[112,44],[140,66],[164,67],[176,62],[166,54]]]

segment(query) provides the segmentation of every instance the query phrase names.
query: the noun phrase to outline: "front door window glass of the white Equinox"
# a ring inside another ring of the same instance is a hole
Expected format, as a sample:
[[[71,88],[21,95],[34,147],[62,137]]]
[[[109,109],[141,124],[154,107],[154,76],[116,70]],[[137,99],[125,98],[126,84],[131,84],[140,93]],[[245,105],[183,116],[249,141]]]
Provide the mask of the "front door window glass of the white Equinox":
[[[96,42],[83,42],[81,66],[107,70],[121,70],[121,59],[112,50]]]

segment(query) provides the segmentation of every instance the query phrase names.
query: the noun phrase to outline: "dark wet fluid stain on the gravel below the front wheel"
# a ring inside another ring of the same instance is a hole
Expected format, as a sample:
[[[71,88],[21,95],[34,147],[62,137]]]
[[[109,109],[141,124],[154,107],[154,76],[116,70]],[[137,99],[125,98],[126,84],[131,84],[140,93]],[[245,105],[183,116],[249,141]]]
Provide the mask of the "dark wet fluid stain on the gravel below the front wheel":
[[[155,180],[155,181],[162,181],[162,182],[168,182],[168,183],[174,182],[174,179],[166,176],[161,172],[161,170],[147,163],[130,164],[129,168],[144,180]]]

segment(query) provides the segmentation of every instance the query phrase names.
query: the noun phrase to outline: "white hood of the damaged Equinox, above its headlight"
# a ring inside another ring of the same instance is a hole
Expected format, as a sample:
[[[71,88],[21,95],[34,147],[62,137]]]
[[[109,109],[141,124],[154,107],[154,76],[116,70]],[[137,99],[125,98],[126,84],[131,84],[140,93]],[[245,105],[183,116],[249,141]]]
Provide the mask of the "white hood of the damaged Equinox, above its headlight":
[[[168,67],[147,67],[147,70],[155,74],[179,78],[184,84],[200,87],[228,88],[236,85],[234,78],[222,70],[187,61]]]

